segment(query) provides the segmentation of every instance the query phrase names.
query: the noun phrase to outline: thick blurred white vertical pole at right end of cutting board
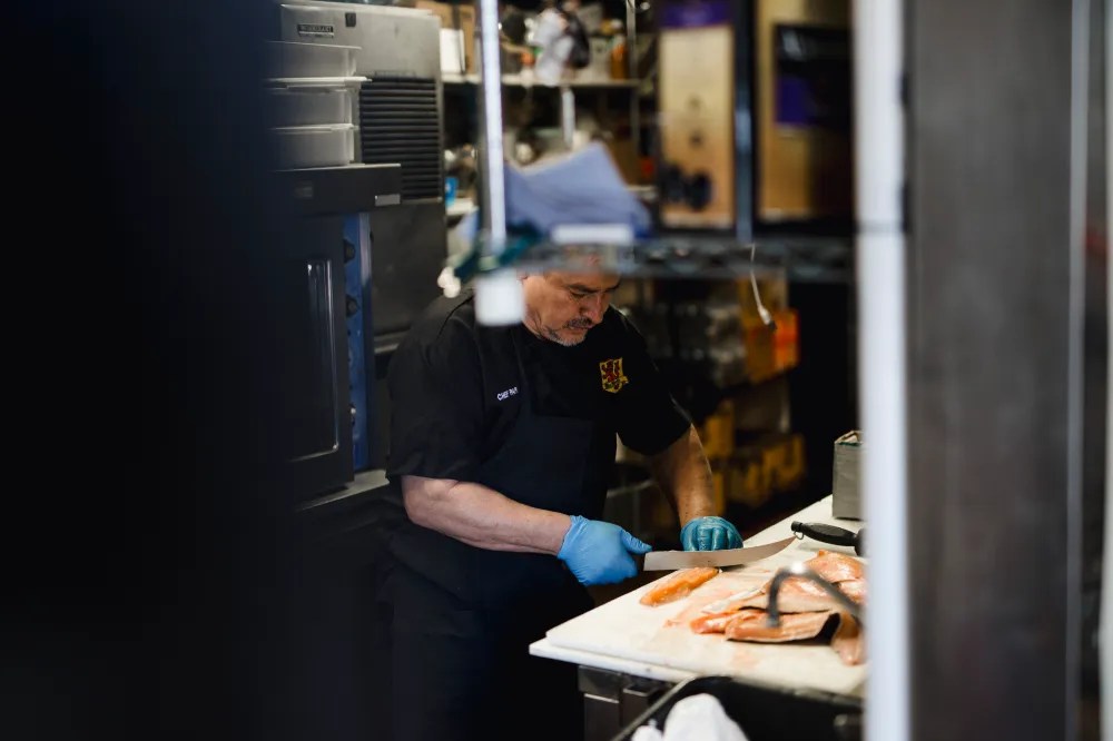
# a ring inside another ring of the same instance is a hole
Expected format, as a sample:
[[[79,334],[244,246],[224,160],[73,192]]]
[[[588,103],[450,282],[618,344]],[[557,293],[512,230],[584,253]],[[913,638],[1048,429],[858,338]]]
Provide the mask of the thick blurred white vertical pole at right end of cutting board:
[[[907,395],[902,2],[854,6],[858,201],[858,337],[863,484],[870,587],[866,739],[907,741],[909,715]]]

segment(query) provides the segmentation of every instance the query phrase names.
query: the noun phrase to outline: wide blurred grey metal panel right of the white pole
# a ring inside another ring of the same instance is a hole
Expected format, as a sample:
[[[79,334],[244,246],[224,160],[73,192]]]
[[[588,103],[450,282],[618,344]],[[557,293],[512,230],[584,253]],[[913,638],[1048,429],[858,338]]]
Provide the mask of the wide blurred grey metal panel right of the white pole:
[[[1075,739],[1086,3],[905,4],[915,738]]]

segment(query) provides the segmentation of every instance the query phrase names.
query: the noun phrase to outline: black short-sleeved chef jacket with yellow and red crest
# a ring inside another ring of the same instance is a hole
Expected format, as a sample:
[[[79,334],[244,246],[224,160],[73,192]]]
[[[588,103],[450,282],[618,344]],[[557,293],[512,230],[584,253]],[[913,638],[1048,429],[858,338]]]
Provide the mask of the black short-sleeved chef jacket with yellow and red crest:
[[[521,324],[477,325],[471,290],[441,298],[398,347],[388,383],[392,480],[473,481],[528,403],[539,415],[602,419],[627,447],[646,455],[668,447],[691,424],[644,339],[614,308],[582,343],[564,347]]]

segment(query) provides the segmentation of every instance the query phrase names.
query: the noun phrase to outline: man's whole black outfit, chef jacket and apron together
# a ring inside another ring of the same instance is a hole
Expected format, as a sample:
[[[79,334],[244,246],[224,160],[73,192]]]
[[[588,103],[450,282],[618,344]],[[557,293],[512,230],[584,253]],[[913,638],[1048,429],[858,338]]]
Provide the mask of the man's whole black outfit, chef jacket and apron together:
[[[580,738],[575,668],[531,656],[591,609],[550,554],[476,549],[405,516],[402,475],[473,481],[531,506],[602,515],[615,433],[653,454],[689,427],[637,330],[611,309],[575,347],[475,323],[471,293],[439,299],[391,362],[393,522],[376,632],[390,671],[376,714],[394,739]],[[529,685],[508,703],[508,681]]]

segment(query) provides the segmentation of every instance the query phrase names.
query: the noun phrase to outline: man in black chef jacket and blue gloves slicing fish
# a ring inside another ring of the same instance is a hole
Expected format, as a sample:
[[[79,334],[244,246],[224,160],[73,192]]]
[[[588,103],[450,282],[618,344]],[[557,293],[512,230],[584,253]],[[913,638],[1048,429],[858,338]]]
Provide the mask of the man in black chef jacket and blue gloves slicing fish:
[[[404,510],[381,591],[397,740],[582,737],[574,668],[529,644],[650,550],[600,521],[615,433],[650,457],[687,550],[741,545],[713,516],[689,418],[609,308],[617,277],[522,280],[523,324],[477,325],[464,292],[434,302],[391,362],[388,474]]]

